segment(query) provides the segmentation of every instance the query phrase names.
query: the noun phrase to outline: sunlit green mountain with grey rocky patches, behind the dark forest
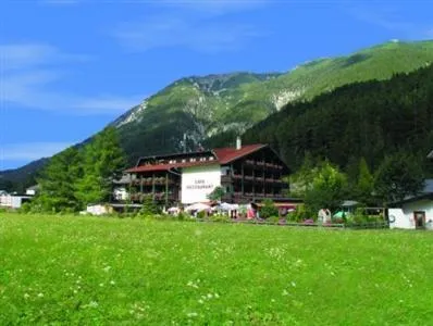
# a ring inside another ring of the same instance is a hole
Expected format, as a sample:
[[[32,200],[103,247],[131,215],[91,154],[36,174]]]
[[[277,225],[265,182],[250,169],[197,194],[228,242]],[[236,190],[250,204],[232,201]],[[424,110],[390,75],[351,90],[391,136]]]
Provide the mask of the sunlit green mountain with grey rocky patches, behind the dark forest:
[[[286,73],[232,73],[176,80],[115,120],[133,163],[140,155],[231,145],[285,104],[357,82],[388,79],[430,65],[433,41],[391,41]],[[184,139],[184,136],[186,138]],[[184,141],[185,140],[185,141]],[[7,173],[0,174],[8,178]]]

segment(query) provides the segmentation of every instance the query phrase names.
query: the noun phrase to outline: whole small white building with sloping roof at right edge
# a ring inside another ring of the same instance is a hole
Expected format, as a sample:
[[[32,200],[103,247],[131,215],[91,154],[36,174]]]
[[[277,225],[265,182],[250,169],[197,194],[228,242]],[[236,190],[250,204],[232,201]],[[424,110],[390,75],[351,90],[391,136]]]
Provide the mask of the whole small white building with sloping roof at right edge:
[[[433,179],[425,180],[424,190],[392,204],[389,228],[433,229]]]

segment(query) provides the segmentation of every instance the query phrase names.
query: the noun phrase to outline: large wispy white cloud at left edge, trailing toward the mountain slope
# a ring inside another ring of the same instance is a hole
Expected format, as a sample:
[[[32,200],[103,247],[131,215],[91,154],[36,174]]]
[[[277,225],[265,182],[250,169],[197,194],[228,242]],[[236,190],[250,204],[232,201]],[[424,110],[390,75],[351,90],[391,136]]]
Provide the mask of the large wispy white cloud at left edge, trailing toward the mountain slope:
[[[96,95],[92,97],[61,90],[58,82],[65,78],[65,64],[87,61],[90,57],[63,53],[37,43],[0,45],[0,101],[29,109],[70,114],[123,113],[141,97]]]

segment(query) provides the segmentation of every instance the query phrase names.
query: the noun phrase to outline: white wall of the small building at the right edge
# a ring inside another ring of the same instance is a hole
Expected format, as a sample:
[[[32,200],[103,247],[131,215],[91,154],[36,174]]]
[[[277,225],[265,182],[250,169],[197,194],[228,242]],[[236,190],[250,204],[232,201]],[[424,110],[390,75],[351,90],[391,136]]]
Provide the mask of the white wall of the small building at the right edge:
[[[389,228],[416,229],[416,212],[423,212],[425,228],[433,229],[433,201],[428,199],[404,203],[399,209],[388,209]]]

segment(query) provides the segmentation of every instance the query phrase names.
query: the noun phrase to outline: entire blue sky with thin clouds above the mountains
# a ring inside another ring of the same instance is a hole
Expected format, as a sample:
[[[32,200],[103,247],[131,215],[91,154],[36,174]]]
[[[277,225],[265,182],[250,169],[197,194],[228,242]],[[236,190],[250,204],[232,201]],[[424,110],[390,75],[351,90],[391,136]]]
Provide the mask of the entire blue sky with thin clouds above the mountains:
[[[432,12],[413,0],[2,0],[0,171],[88,138],[177,78],[432,39]]]

